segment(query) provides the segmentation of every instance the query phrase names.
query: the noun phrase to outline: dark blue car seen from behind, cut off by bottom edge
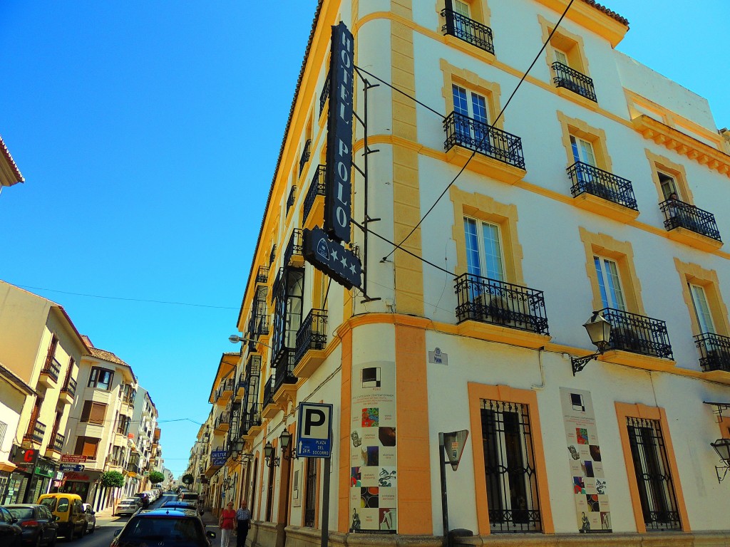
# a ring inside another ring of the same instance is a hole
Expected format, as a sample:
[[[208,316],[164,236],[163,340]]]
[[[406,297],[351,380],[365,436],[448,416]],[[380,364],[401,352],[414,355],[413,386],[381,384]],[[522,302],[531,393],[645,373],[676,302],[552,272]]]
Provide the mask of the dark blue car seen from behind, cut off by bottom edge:
[[[195,511],[184,509],[150,509],[139,511],[124,527],[114,532],[110,547],[143,545],[184,545],[210,547],[215,532],[206,531]]]

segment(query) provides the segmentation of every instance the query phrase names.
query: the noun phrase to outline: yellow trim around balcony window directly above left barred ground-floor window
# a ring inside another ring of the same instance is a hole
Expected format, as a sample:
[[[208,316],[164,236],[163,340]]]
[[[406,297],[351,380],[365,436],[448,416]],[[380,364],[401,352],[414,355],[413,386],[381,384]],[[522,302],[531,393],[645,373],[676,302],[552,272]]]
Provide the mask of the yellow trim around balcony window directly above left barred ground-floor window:
[[[525,284],[522,272],[523,252],[517,230],[517,206],[499,203],[485,194],[467,193],[457,186],[450,187],[449,198],[454,208],[452,237],[456,242],[455,276],[466,274],[464,216],[467,216],[499,226],[499,231],[502,233],[504,274],[507,281],[518,285]]]

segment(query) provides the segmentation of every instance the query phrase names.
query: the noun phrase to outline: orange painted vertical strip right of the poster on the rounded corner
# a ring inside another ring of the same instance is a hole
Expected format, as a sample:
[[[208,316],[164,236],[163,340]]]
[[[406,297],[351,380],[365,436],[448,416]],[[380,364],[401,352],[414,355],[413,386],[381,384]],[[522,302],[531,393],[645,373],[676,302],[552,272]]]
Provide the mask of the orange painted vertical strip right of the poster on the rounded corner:
[[[426,330],[396,325],[399,534],[433,533]]]

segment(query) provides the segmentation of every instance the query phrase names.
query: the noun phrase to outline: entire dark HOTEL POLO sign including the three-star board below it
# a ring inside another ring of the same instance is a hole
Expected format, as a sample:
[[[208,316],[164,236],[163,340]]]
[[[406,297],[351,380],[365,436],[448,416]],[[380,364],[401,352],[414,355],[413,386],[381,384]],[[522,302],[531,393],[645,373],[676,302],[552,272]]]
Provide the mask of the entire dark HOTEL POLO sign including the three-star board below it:
[[[353,168],[354,39],[344,23],[332,27],[324,230],[304,230],[304,258],[348,289],[361,287],[361,263],[350,242]]]

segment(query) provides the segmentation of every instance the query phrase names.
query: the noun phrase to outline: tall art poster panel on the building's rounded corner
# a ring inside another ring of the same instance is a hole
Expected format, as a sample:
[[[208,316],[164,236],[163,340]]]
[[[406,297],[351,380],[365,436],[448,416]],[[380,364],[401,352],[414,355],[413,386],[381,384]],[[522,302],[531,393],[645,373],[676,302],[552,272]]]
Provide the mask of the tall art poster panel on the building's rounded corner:
[[[350,532],[396,533],[396,366],[353,366]]]

